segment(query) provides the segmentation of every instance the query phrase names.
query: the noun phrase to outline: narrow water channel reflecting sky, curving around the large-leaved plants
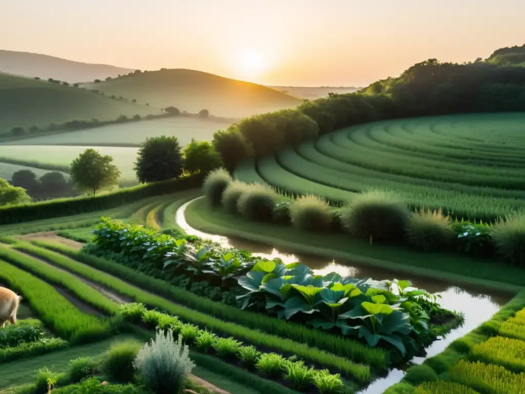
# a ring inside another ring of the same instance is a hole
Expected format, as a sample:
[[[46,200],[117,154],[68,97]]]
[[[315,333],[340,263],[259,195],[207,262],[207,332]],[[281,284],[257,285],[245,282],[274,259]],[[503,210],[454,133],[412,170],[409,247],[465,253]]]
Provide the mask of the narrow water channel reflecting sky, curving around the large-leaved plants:
[[[198,231],[191,227],[186,222],[185,218],[186,207],[195,200],[185,203],[176,212],[175,221],[177,225],[181,226],[187,234],[196,235],[204,239],[211,239],[223,247],[235,247],[241,250],[247,250],[256,256],[270,259],[279,257],[285,263],[300,261],[301,263],[310,266],[314,272],[320,275],[325,275],[330,272],[337,272],[342,276],[353,276],[360,278],[371,277],[372,279],[376,280],[394,278],[407,279],[411,281],[415,287],[424,288],[428,292],[441,295],[442,298],[440,298],[439,303],[444,308],[456,310],[457,312],[461,312],[465,315],[465,323],[463,326],[450,331],[446,337],[435,340],[425,349],[426,354],[424,357],[413,357],[403,368],[391,369],[387,376],[375,380],[366,389],[360,391],[360,394],[382,393],[388,387],[400,381],[405,374],[405,370],[409,366],[422,364],[426,358],[433,357],[442,352],[452,341],[464,336],[469,331],[479,326],[481,323],[490,319],[490,317],[512,297],[511,294],[500,293],[489,289],[480,291],[479,289],[470,286],[458,287],[443,281],[436,281],[429,278],[416,276],[407,277],[406,274],[396,272],[395,270],[364,266],[355,264],[353,262],[337,262],[334,260],[328,261],[327,259],[323,260],[322,258],[311,255],[287,253],[289,251],[285,252],[282,250],[277,250],[277,248],[270,245],[234,239],[232,237],[218,234],[203,233],[202,231]]]

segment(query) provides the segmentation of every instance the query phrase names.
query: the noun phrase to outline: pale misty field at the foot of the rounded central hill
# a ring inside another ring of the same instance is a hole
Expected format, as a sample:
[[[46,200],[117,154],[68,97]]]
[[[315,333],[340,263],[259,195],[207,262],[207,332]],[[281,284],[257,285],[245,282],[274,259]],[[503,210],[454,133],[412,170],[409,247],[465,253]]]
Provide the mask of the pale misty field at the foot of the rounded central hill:
[[[181,147],[190,143],[192,138],[197,141],[211,141],[213,133],[226,129],[229,123],[215,122],[212,119],[192,117],[177,117],[155,119],[141,122],[116,124],[95,129],[80,130],[50,136],[35,137],[8,142],[9,145],[97,145],[97,144],[136,144],[140,145],[148,137],[162,134],[175,136]],[[47,149],[42,147],[41,149]]]

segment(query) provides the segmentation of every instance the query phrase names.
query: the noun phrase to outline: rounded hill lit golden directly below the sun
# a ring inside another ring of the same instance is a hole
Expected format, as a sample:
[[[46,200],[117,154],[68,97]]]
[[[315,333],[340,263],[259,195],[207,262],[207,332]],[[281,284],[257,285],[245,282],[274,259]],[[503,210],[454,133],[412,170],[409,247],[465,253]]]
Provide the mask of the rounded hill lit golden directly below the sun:
[[[156,107],[174,106],[188,112],[207,109],[212,115],[234,118],[301,103],[296,97],[266,86],[188,69],[134,72],[85,86],[100,89],[107,96],[134,98]]]

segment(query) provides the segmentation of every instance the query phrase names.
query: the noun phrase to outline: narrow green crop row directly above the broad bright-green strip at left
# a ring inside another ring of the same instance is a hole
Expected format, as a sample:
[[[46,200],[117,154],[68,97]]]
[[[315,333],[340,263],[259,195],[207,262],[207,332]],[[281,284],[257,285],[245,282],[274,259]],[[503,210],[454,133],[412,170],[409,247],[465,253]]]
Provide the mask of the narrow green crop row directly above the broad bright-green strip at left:
[[[48,252],[41,250],[38,247],[29,244],[15,245],[14,248],[18,251],[26,252],[29,254],[37,255],[40,258],[47,260]],[[38,278],[43,279],[47,283],[56,284],[60,287],[67,289],[68,292],[74,294],[77,298],[86,302],[89,305],[101,310],[107,315],[112,315],[118,309],[118,304],[103,296],[96,289],[80,281],[76,276],[71,275],[68,272],[57,269],[51,265],[36,260],[30,256],[17,253],[14,250],[9,250],[5,247],[0,246],[0,258],[22,268],[24,271],[35,275]],[[66,257],[64,257],[66,259]]]

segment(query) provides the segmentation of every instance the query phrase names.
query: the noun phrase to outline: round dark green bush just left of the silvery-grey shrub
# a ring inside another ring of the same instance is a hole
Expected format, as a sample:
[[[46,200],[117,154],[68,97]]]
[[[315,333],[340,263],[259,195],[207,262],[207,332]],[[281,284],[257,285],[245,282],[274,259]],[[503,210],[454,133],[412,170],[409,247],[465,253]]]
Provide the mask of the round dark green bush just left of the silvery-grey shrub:
[[[111,345],[104,357],[104,373],[117,382],[132,382],[135,374],[133,361],[141,346],[140,342],[131,340]]]

